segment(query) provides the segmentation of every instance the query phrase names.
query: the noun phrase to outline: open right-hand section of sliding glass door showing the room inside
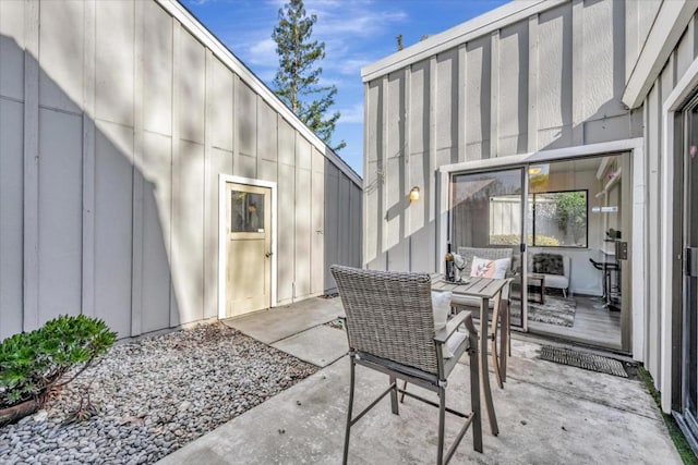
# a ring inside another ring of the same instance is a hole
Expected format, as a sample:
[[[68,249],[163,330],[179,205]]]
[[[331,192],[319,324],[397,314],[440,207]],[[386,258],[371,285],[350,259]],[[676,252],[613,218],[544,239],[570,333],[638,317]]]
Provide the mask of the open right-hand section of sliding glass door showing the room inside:
[[[629,157],[546,161],[527,172],[527,278],[535,290],[528,329],[629,351]]]

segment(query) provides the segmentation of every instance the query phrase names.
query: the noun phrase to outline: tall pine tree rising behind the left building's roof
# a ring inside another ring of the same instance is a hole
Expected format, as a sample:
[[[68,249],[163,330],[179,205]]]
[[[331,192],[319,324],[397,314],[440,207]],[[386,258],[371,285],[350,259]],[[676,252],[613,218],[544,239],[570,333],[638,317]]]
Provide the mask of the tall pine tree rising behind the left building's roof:
[[[315,63],[325,58],[325,42],[311,41],[317,16],[308,16],[303,0],[290,0],[279,9],[279,24],[272,38],[279,56],[279,70],[274,78],[276,95],[327,145],[330,145],[339,112],[325,119],[335,105],[337,87],[320,86],[323,69]],[[313,99],[313,96],[318,98]],[[334,150],[344,148],[342,140]]]

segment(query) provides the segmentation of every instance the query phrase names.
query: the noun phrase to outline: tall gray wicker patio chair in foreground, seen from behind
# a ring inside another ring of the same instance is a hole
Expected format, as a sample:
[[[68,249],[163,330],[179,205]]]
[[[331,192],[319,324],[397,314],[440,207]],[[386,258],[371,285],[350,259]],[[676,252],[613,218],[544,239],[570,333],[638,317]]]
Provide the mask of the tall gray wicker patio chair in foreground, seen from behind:
[[[338,265],[333,265],[330,269],[345,307],[351,369],[342,463],[347,463],[351,427],[385,395],[390,394],[392,412],[398,415],[397,397],[404,390],[398,388],[397,379],[408,380],[438,394],[438,403],[435,403],[406,392],[410,397],[438,407],[437,464],[448,463],[470,426],[473,448],[482,452],[478,335],[470,313],[457,315],[445,328],[436,331],[429,274],[361,270]],[[467,332],[457,331],[461,325],[465,325]],[[453,353],[453,357],[444,358],[444,345]],[[470,354],[472,408],[468,414],[446,407],[448,376],[466,352]],[[389,387],[354,416],[357,364],[388,375]],[[444,453],[446,412],[467,420]]]

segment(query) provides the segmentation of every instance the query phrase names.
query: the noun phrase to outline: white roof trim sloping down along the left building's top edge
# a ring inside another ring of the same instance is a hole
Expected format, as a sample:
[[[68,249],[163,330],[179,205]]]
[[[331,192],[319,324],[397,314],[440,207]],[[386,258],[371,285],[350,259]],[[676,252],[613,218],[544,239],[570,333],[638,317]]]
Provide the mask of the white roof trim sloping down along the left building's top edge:
[[[244,65],[225,45],[220,42],[202,23],[198,22],[182,4],[177,0],[155,0],[160,7],[171,14],[182,26],[207,47],[216,58],[236,73],[252,90],[264,99],[275,111],[277,111],[291,126],[303,135],[312,145],[317,148],[329,161],[347,175],[359,187],[363,186],[363,181],[356,171],[347,164],[337,154],[335,154],[315,133],[313,133],[289,108],[279,100],[248,66]]]

